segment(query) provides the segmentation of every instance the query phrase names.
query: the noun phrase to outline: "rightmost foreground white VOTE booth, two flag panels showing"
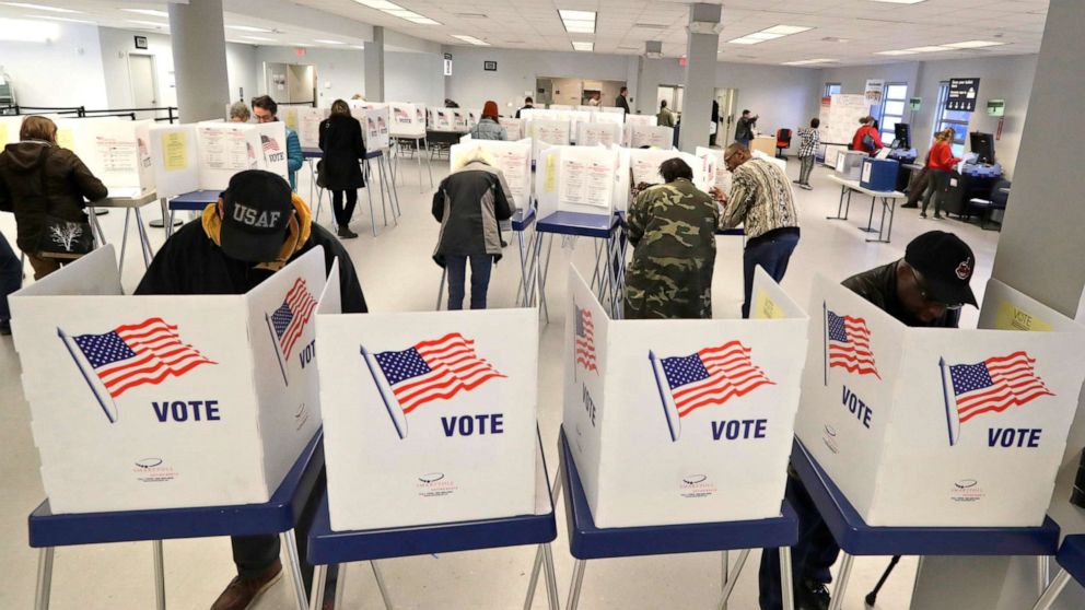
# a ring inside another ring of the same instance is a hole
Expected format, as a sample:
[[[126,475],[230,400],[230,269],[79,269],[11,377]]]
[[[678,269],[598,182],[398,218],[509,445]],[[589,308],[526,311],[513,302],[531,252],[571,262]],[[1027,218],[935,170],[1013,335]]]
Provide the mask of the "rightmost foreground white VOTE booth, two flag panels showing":
[[[1085,329],[995,281],[979,330],[906,327],[825,277],[810,310],[795,432],[867,525],[1042,523]]]

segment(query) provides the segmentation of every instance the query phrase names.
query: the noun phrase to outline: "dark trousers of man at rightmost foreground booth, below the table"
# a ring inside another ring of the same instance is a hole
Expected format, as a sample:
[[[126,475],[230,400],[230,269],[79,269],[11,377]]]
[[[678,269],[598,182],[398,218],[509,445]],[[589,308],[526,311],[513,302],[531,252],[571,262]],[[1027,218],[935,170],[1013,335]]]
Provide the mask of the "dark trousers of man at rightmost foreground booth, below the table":
[[[840,554],[840,547],[814,506],[809,493],[802,481],[788,477],[788,502],[798,515],[798,541],[791,548],[791,575],[794,585],[803,578],[815,583],[829,584],[832,576],[829,568]],[[783,600],[780,591],[780,552],[777,549],[761,551],[761,570],[758,574],[761,610],[781,610]]]

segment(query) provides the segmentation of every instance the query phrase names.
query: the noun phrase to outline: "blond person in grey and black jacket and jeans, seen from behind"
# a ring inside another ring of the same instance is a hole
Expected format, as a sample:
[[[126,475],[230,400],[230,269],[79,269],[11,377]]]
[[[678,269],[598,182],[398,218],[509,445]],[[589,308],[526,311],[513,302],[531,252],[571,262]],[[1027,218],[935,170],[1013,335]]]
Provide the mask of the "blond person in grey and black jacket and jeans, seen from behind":
[[[476,148],[464,165],[441,180],[433,193],[433,218],[441,223],[433,260],[448,270],[448,309],[464,308],[467,261],[471,263],[471,309],[486,309],[491,266],[501,260],[501,228],[515,204],[501,169]]]

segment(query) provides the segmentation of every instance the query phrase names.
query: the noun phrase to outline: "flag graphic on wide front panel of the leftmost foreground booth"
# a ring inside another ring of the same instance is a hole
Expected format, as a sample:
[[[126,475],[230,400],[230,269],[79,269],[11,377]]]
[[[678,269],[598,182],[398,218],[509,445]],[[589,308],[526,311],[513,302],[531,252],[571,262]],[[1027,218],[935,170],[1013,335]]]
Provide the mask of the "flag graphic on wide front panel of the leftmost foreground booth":
[[[183,343],[177,327],[162,318],[118,326],[104,335],[79,335],[71,340],[114,398],[137,386],[156,386],[167,377],[180,377],[201,364],[217,364]],[[83,368],[79,359],[75,364]]]

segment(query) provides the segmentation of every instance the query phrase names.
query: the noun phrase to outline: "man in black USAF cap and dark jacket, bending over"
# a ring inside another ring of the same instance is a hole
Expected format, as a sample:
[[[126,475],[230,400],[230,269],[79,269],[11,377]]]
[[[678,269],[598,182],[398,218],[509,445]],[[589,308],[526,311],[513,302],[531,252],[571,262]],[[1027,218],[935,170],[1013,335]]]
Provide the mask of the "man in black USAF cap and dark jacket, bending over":
[[[252,169],[230,179],[218,203],[178,230],[159,250],[136,294],[244,294],[287,263],[320,246],[327,271],[339,259],[345,314],[369,309],[342,244],[311,219],[308,206],[281,176]],[[305,532],[298,535],[304,556]],[[282,575],[279,538],[236,536],[237,577],[211,610],[242,610]],[[306,567],[306,574],[312,568]]]

